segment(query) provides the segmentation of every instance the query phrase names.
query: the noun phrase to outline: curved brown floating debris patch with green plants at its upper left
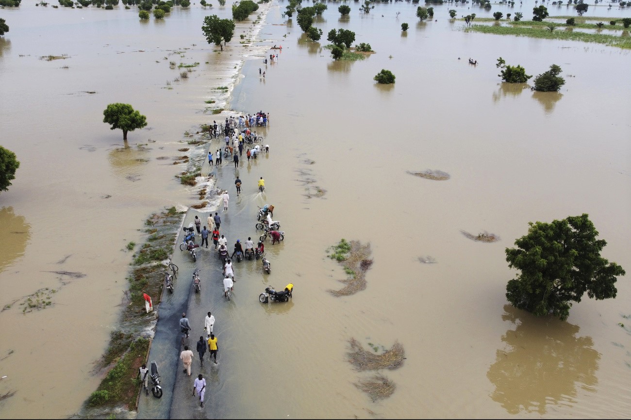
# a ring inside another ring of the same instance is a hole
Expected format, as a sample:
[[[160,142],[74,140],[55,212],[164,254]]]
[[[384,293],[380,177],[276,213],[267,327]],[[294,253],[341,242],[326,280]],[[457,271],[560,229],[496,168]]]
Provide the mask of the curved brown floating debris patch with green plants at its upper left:
[[[327,249],[331,251],[329,258],[335,259],[344,268],[348,278],[339,280],[346,286],[340,290],[327,290],[334,296],[348,296],[366,288],[366,271],[372,266],[370,243],[362,245],[359,241],[347,242],[341,239],[337,245]]]

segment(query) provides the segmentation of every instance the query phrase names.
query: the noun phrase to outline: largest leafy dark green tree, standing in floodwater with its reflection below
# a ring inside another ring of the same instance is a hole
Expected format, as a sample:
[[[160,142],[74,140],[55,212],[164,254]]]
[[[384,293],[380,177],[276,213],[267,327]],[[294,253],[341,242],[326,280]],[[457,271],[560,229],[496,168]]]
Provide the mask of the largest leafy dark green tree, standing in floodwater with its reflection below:
[[[517,248],[506,248],[509,267],[521,271],[506,285],[510,304],[564,321],[571,302],[581,302],[585,292],[596,300],[616,297],[616,276],[625,271],[601,257],[607,242],[596,239],[587,214],[529,226],[528,234],[515,241]]]

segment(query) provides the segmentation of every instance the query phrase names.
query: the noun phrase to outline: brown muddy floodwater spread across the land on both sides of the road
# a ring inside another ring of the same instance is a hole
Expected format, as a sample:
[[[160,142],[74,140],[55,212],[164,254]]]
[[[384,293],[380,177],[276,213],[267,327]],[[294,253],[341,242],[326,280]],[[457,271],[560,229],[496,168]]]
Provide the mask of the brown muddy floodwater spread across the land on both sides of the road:
[[[259,45],[283,45],[278,62],[245,57],[230,103],[271,113],[271,154],[246,171],[246,182],[264,176],[287,236],[268,251],[271,278],[252,276],[230,312],[222,339],[239,363],[221,378],[230,376],[241,403],[225,417],[627,416],[630,330],[618,322],[630,315],[628,281],[615,300],[574,305],[567,322],[533,319],[506,305],[514,273],[504,249],[529,221],[585,212],[608,241],[604,256],[630,269],[629,53],[463,33],[447,6],[435,8],[437,22],[416,23],[408,3],[378,4],[369,16],[353,11],[348,20],[331,3],[315,21],[324,37],[348,28],[377,52],[332,62],[327,50],[300,42],[295,16],[282,25],[284,8],[274,1],[259,33]],[[0,40],[2,144],[21,167],[0,195],[2,304],[16,302],[0,313],[8,356],[0,390],[17,391],[1,403],[2,417],[72,414],[95,389],[93,361],[121,309],[127,242],[142,240],[149,213],[196,200],[194,188],[174,181],[183,168],[173,159],[192,152],[178,152],[190,147],[183,133],[213,119],[205,100],[223,105],[215,88],[230,86],[239,53],[271,54],[240,47],[236,36],[216,54],[199,30],[209,12],[195,7],[162,23],[139,23],[130,12],[3,11],[11,31]],[[38,59],[49,54],[71,58]],[[529,74],[555,63],[575,77],[559,94],[516,90],[499,82],[500,55]],[[181,69],[170,60],[201,64],[175,82]],[[394,86],[374,85],[380,69],[396,75]],[[102,123],[102,110],[117,101],[148,116],[147,128],[129,133],[129,148]],[[451,179],[407,173],[425,169]],[[231,174],[220,182],[232,186]],[[326,194],[307,198],[305,185]],[[262,203],[252,197],[249,206]],[[478,243],[461,230],[501,240]],[[344,274],[324,250],[342,237],[370,242],[374,264],[365,291],[335,298],[326,290],[341,287]],[[264,285],[289,281],[293,302],[256,303]],[[22,314],[22,297],[40,288],[58,290],[54,305]],[[345,360],[351,337],[379,348],[403,343],[403,368],[382,372],[396,383],[389,399],[373,403],[353,385],[369,374]],[[33,385],[33,377],[54,380]],[[281,399],[291,403],[269,404]]]

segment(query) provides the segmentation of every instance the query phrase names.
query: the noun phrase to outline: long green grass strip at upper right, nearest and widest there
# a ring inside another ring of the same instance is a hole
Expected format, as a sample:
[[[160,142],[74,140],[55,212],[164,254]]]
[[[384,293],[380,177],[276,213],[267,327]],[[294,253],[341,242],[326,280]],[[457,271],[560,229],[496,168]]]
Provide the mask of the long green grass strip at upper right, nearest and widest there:
[[[514,35],[516,37],[543,38],[549,40],[594,42],[610,47],[631,48],[631,37],[619,35],[605,35],[602,33],[585,33],[579,31],[548,31],[545,28],[531,26],[487,26],[472,25],[464,31],[492,33],[494,35]]]

